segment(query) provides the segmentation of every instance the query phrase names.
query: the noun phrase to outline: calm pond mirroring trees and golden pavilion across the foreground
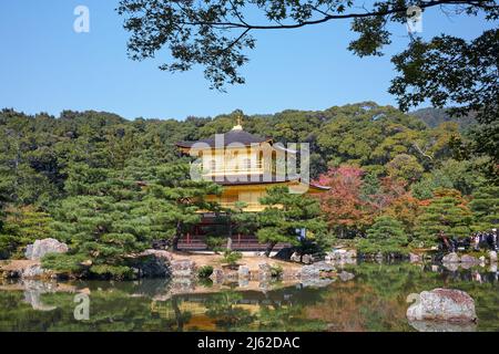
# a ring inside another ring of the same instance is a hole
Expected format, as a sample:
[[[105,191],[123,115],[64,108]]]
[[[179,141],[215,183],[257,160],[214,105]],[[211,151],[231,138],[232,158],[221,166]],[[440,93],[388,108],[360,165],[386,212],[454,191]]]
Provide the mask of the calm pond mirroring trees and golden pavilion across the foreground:
[[[4,281],[0,331],[499,331],[497,269],[360,263],[345,270],[355,277],[312,284]],[[407,298],[435,288],[468,292],[478,323],[408,323]]]

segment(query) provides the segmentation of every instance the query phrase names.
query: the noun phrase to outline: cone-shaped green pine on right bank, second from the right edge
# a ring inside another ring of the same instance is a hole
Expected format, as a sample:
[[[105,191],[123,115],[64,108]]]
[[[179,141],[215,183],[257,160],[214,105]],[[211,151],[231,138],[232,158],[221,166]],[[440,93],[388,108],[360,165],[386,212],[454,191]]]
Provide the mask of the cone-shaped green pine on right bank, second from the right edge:
[[[437,189],[429,205],[418,217],[416,240],[436,244],[440,231],[446,237],[465,238],[470,233],[471,211],[456,189]]]

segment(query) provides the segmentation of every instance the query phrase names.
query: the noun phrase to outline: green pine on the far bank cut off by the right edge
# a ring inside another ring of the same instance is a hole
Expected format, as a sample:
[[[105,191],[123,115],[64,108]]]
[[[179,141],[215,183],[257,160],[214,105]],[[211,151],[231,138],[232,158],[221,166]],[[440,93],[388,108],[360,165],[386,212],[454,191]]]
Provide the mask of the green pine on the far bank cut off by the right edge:
[[[497,228],[499,225],[499,187],[482,187],[472,197],[469,206],[475,217],[473,229],[482,231]]]

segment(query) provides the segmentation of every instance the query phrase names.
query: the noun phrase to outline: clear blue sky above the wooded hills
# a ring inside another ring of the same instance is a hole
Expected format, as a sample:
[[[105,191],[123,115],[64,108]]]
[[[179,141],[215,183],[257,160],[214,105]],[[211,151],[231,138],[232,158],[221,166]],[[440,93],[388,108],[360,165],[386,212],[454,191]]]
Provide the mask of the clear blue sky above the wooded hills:
[[[75,33],[73,10],[90,9],[90,33]],[[256,33],[256,49],[244,69],[246,84],[227,93],[208,88],[201,69],[162,72],[161,58],[126,56],[128,33],[114,8],[118,0],[0,1],[0,108],[28,114],[96,110],[126,118],[213,116],[242,108],[246,114],[286,108],[324,110],[360,101],[395,105],[387,93],[393,53],[405,48],[407,31],[393,27],[394,43],[383,58],[354,56],[346,50],[348,21],[298,31]],[[424,14],[422,35],[441,32],[475,38],[490,28],[480,18]]]

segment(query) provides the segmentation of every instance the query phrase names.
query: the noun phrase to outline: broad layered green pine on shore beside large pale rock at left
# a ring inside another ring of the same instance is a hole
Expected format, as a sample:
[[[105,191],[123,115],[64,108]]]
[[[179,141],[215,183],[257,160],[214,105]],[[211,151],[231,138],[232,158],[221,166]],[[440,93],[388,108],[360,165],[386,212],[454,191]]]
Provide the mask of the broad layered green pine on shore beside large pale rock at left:
[[[102,181],[81,184],[75,190],[86,194],[68,197],[54,210],[54,235],[69,243],[70,251],[45,257],[44,267],[126,278],[131,275],[128,256],[150,247],[150,220],[140,212],[141,187],[134,180],[100,171],[104,174]]]

